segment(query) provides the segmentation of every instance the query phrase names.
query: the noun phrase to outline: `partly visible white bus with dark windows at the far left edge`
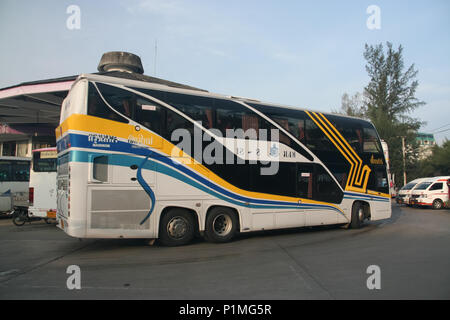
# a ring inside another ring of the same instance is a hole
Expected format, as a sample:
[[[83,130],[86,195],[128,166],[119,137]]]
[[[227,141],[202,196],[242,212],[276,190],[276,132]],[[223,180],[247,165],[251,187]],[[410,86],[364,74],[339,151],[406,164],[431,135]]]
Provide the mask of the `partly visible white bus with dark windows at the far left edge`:
[[[0,157],[0,212],[28,206],[30,158]]]

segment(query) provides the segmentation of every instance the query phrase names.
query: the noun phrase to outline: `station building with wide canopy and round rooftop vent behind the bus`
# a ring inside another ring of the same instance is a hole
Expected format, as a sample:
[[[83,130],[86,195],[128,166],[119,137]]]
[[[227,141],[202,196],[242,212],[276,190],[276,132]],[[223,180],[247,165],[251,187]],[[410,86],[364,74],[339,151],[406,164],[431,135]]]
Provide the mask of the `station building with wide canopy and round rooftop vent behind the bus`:
[[[206,91],[143,74],[138,56],[105,53],[95,74]],[[31,151],[56,145],[61,104],[78,75],[20,83],[0,89],[0,155],[31,157]]]

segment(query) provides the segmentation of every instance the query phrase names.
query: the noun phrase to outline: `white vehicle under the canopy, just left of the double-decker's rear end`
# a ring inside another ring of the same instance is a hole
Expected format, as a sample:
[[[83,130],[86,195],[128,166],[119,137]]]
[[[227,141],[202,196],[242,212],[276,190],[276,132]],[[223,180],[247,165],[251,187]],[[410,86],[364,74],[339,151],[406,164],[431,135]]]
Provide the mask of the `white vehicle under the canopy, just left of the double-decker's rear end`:
[[[56,219],[56,148],[33,150],[30,170],[30,216]]]

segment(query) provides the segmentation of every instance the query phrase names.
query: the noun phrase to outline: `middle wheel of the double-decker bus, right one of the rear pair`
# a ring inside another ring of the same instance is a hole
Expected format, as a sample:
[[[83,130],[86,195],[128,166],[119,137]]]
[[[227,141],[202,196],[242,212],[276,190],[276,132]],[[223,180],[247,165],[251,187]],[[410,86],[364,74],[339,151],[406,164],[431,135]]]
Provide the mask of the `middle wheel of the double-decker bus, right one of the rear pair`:
[[[225,207],[212,208],[206,218],[205,238],[211,242],[228,242],[238,231],[238,218],[233,210]]]

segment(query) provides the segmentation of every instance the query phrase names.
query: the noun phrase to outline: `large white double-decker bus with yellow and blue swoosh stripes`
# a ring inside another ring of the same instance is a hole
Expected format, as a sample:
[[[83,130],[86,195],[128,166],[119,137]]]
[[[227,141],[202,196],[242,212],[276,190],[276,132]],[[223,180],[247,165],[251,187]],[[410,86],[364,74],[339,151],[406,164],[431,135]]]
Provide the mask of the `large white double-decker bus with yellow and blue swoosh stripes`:
[[[56,136],[73,237],[226,242],[391,215],[380,138],[357,118],[84,74]]]

